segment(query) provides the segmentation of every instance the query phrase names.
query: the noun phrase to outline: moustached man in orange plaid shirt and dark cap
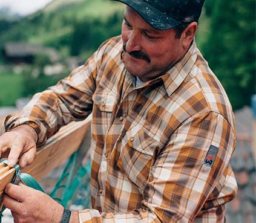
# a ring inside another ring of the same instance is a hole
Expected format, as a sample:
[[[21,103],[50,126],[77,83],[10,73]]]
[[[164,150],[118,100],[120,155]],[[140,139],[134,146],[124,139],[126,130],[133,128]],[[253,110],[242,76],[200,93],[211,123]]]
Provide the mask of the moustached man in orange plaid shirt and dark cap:
[[[61,126],[93,112],[93,209],[70,212],[8,184],[15,222],[225,222],[237,186],[232,108],[195,45],[203,0],[125,3],[122,37],[5,120],[2,152],[31,164]],[[62,214],[63,213],[63,214]]]

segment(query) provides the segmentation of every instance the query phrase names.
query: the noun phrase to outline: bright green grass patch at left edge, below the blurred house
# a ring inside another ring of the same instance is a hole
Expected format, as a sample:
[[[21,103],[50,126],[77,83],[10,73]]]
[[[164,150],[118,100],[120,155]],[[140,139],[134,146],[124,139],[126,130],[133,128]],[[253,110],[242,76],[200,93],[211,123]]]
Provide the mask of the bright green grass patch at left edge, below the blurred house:
[[[0,73],[0,106],[14,106],[21,91],[22,74]]]

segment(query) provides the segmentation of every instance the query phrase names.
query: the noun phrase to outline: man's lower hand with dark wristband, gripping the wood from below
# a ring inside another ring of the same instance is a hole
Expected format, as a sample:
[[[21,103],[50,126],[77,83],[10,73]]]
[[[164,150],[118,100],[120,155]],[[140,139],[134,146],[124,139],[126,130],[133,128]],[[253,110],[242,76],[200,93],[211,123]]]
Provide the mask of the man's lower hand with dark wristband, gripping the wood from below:
[[[59,223],[64,207],[50,196],[24,184],[7,184],[4,205],[19,223]],[[72,212],[70,223],[78,223],[77,212]]]

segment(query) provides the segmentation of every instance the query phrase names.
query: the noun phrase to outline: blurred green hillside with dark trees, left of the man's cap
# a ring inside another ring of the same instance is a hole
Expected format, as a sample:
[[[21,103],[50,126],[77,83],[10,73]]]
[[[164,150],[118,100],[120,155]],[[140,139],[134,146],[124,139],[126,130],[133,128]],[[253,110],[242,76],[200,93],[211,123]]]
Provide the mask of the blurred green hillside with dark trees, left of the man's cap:
[[[100,21],[99,26],[103,25],[115,13],[120,17],[123,8],[123,4],[108,0],[55,0],[40,11],[12,22],[8,26],[5,25],[2,30],[0,21],[0,48],[6,42],[22,40],[54,47],[62,56],[67,57],[72,51],[70,45],[73,44],[72,39],[77,24],[93,27],[90,24],[96,20],[98,23]],[[3,22],[6,23],[6,21]],[[122,19],[119,25],[121,22]],[[90,33],[95,30],[86,31]]]

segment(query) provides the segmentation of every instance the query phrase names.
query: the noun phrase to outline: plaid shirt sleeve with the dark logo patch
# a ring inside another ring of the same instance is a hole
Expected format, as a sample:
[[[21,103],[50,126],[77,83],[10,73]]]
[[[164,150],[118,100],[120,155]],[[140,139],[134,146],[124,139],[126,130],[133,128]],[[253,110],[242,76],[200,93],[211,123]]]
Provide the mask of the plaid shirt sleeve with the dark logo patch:
[[[80,223],[193,222],[195,217],[198,222],[208,222],[204,218],[223,222],[224,204],[237,190],[229,166],[234,147],[235,131],[222,115],[208,112],[191,117],[156,155],[143,190],[143,209],[80,210]],[[212,162],[207,160],[209,154],[215,156]]]

